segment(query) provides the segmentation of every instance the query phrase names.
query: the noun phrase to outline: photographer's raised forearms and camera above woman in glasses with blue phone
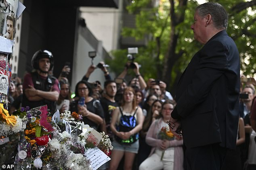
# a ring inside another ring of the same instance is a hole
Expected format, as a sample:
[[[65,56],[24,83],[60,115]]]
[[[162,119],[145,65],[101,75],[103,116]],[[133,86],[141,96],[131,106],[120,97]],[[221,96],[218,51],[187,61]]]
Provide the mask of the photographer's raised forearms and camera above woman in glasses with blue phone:
[[[95,65],[90,65],[90,67],[88,68],[86,74],[84,75],[84,77],[82,78],[82,80],[88,81],[90,75],[92,74],[92,72],[94,72],[94,70],[96,68],[101,68],[101,70],[104,73],[105,79],[106,80],[111,80],[111,77],[109,75],[109,72],[107,70],[107,65],[105,65],[105,63],[103,61],[99,62],[99,64],[97,64],[97,66]]]

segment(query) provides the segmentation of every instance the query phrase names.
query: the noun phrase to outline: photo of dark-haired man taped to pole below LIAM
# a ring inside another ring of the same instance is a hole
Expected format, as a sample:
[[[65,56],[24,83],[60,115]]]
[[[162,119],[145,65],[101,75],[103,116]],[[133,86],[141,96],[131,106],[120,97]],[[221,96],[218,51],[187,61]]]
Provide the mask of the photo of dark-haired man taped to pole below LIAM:
[[[15,17],[14,15],[8,15],[0,12],[0,36],[10,40],[14,40],[15,37]]]

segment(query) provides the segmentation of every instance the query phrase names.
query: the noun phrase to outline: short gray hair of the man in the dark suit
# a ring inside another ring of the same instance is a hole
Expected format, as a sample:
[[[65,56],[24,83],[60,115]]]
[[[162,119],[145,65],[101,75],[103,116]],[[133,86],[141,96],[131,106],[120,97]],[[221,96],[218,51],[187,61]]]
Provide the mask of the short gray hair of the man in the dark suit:
[[[196,12],[200,17],[210,14],[213,25],[217,29],[227,29],[228,15],[222,5],[216,2],[207,2],[197,6]]]

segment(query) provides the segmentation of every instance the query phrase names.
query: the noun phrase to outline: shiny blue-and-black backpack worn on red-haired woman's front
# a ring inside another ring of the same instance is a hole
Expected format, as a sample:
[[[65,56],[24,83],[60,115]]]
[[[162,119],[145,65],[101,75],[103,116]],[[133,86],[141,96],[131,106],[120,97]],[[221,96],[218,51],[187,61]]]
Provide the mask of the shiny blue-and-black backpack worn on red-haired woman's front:
[[[132,116],[126,116],[123,114],[122,109],[119,108],[120,113],[121,113],[121,118],[120,118],[120,123],[119,125],[116,125],[116,130],[118,132],[129,132],[131,131],[135,126],[136,126],[136,118],[135,118],[135,114],[138,110],[138,108],[136,108],[134,114]],[[129,139],[121,139],[120,137],[115,135],[115,140],[120,143],[120,144],[125,144],[125,145],[131,145],[132,143],[136,142],[138,140],[138,133],[130,136]]]

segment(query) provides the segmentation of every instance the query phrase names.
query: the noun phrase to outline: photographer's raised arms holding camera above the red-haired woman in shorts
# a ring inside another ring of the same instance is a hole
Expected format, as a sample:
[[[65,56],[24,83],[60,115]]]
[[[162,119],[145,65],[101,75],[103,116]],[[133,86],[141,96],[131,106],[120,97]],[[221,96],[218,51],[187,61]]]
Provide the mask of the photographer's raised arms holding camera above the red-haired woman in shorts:
[[[124,79],[129,68],[132,68],[136,75],[136,77],[130,81],[130,86],[137,86],[141,90],[145,89],[147,84],[140,74],[140,68],[137,62],[127,62],[123,72],[118,76],[118,78]]]

